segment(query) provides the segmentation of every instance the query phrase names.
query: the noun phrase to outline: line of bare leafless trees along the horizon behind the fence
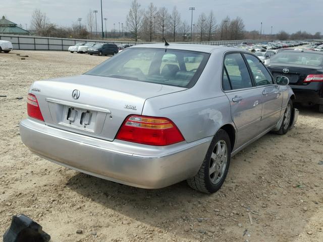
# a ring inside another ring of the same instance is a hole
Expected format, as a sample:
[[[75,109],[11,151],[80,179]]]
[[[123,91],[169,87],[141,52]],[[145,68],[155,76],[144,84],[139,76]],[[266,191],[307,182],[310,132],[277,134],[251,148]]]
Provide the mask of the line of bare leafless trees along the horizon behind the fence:
[[[83,24],[83,22],[85,24]],[[100,38],[101,28],[96,26],[94,13],[89,10],[85,21],[74,22],[71,26],[62,27],[50,23],[45,13],[39,9],[32,14],[31,30],[38,36],[59,38]],[[192,35],[191,35],[192,27]],[[98,34],[96,33],[98,30]],[[264,40],[287,40],[287,39],[319,39],[321,33],[314,35],[306,31],[298,31],[288,34],[282,30],[277,34],[264,34],[260,31],[246,31],[241,17],[225,17],[217,22],[216,15],[210,10],[208,13],[200,13],[196,21],[191,23],[183,20],[176,6],[169,12],[165,7],[157,8],[150,3],[146,9],[142,8],[138,0],[133,0],[126,16],[125,28],[122,35],[116,29],[106,33],[105,37],[123,37],[134,41],[155,42],[163,41],[217,41],[217,40],[239,40],[239,39],[264,39]]]

